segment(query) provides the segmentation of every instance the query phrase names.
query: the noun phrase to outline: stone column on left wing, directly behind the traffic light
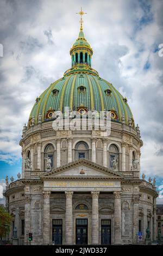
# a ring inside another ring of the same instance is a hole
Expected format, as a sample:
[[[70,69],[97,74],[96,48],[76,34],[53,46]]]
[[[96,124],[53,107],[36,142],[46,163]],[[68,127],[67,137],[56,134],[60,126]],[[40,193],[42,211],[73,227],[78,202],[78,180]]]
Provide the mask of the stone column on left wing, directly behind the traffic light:
[[[24,206],[24,245],[27,245],[27,234],[30,233],[30,194],[25,194]]]

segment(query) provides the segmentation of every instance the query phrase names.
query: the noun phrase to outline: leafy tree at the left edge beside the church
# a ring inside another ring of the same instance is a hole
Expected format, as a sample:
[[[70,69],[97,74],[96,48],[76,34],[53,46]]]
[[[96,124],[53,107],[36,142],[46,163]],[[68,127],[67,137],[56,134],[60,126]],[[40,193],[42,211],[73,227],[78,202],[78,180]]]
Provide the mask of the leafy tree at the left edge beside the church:
[[[7,234],[10,231],[10,225],[12,221],[12,216],[3,208],[3,206],[0,206],[0,237],[5,237],[5,232],[7,231]]]

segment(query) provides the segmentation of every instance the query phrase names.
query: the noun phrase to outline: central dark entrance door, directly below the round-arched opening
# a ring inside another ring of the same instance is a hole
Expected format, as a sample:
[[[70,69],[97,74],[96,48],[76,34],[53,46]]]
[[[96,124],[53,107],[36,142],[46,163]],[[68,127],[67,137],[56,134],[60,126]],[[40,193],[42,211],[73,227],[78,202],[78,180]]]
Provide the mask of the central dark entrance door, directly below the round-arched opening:
[[[76,245],[87,245],[87,218],[76,219]]]

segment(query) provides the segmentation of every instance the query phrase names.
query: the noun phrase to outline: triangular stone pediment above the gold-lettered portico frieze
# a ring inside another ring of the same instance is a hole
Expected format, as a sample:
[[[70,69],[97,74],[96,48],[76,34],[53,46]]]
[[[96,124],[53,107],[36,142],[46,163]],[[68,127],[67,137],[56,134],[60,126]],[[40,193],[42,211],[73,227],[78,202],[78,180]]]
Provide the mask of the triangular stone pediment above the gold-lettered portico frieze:
[[[52,178],[112,178],[122,179],[124,175],[87,159],[79,159],[41,175],[42,179]]]

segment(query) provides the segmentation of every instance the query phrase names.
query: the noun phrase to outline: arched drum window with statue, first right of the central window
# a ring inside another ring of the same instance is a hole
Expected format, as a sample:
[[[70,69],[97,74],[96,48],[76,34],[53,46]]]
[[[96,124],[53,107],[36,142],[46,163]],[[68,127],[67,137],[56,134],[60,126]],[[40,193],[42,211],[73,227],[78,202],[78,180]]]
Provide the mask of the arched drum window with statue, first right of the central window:
[[[118,148],[114,144],[109,147],[109,167],[118,169]]]

